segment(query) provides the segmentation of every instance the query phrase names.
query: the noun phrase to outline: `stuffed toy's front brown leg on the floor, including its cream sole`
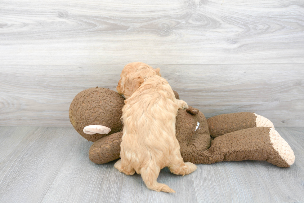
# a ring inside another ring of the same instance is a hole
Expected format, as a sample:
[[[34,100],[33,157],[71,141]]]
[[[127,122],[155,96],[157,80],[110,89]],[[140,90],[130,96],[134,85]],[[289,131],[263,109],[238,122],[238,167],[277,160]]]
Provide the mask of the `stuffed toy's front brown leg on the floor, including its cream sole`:
[[[196,163],[260,160],[279,167],[289,167],[295,159],[288,143],[270,127],[248,128],[219,136],[200,156],[201,161]]]

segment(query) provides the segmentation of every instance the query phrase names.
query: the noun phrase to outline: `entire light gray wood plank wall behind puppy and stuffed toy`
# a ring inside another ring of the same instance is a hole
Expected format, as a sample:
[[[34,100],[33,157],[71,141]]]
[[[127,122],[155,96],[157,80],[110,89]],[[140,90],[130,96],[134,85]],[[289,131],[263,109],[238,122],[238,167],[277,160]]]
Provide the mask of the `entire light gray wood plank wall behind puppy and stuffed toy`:
[[[70,126],[83,89],[142,61],[206,117],[304,126],[304,2],[0,2],[0,126]]]

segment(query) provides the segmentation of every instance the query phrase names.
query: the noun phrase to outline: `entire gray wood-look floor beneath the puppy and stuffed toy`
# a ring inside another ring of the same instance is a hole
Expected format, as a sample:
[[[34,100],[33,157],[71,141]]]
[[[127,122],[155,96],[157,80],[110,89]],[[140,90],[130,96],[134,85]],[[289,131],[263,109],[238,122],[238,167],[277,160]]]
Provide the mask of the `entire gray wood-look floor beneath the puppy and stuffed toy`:
[[[115,161],[88,158],[92,142],[72,127],[0,127],[0,202],[304,202],[304,128],[276,128],[296,156],[290,168],[265,161],[197,165],[184,177],[161,170],[175,194],[154,192]]]

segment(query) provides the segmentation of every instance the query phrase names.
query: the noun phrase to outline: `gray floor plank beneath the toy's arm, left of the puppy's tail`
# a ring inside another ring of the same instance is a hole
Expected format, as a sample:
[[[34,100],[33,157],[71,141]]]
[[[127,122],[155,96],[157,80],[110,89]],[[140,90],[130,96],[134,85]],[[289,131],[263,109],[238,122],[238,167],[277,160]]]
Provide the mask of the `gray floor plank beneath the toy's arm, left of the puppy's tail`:
[[[118,202],[123,174],[113,170],[114,162],[103,165],[91,162],[88,156],[91,145],[78,134],[42,202]]]

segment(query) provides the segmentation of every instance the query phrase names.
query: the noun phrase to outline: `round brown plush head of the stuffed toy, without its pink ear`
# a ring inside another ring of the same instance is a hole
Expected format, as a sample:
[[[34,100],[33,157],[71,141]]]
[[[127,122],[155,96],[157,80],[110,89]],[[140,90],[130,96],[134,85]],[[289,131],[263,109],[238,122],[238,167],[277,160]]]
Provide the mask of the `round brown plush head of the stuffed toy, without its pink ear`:
[[[113,90],[90,88],[78,93],[69,108],[69,117],[75,130],[88,141],[96,140],[122,130],[120,121],[124,98]],[[88,135],[83,128],[89,125],[102,125],[111,129],[106,135]]]

